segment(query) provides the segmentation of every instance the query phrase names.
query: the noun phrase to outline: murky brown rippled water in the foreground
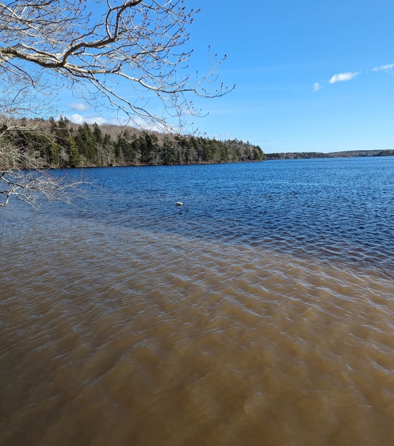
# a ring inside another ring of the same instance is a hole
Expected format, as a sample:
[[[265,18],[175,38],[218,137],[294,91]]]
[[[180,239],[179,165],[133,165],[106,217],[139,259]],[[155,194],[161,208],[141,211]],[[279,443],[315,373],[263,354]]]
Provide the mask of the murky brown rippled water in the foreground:
[[[2,214],[0,444],[393,444],[392,246],[51,209]]]

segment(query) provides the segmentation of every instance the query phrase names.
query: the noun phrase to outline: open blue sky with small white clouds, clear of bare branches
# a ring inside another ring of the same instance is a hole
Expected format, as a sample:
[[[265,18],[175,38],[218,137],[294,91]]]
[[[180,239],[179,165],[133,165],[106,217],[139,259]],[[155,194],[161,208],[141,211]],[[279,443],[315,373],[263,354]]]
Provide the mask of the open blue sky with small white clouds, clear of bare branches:
[[[192,69],[227,55],[222,98],[194,101],[194,123],[264,152],[394,149],[394,2],[188,0]],[[73,100],[73,120],[111,116]],[[70,105],[70,103],[65,103]]]

